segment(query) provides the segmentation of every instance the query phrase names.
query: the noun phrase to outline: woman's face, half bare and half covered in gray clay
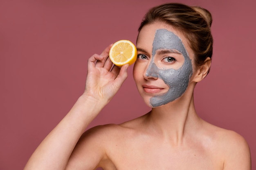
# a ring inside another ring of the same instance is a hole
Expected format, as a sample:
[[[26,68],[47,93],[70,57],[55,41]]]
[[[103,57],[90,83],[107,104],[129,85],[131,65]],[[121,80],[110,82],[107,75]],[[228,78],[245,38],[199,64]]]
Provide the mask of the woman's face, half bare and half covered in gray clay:
[[[194,53],[180,31],[162,22],[148,24],[139,32],[137,50],[133,77],[146,104],[159,107],[184,94]]]

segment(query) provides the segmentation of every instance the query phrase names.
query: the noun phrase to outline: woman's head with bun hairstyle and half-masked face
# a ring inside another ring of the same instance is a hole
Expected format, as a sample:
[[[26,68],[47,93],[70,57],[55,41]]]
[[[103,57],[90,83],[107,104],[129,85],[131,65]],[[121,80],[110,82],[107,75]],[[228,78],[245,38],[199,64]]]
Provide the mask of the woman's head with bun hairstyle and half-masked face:
[[[207,31],[198,31],[203,28]],[[165,105],[186,92],[192,95],[196,82],[207,75],[212,55],[210,24],[186,5],[154,7],[139,27],[137,50],[133,76],[139,93],[149,106]]]

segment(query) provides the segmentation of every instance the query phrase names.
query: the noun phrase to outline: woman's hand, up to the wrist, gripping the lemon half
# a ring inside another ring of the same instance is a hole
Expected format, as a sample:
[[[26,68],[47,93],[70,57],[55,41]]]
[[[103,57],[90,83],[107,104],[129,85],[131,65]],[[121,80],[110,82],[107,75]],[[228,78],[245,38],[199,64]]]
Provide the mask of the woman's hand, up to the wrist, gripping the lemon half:
[[[113,65],[108,57],[112,44],[100,55],[94,54],[88,59],[88,73],[83,95],[99,101],[109,102],[127,78],[128,64],[121,68]]]

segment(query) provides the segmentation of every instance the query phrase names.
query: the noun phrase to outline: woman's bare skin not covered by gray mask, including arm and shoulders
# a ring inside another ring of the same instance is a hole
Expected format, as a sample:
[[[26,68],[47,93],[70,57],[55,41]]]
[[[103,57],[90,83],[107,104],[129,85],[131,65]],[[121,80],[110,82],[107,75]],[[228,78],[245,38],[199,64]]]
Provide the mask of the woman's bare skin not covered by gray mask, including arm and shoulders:
[[[168,90],[161,79],[145,74],[152,59],[154,33],[159,28],[181,37],[192,63],[194,59],[186,38],[175,28],[158,22],[142,28],[137,40],[142,51],[138,54],[148,58],[137,59],[133,76],[148,106],[153,95]],[[128,65],[111,70],[109,49],[89,59],[84,94],[38,146],[25,170],[251,170],[245,139],[205,122],[195,111],[193,90],[207,75],[209,59],[200,68],[193,64],[189,86],[180,98],[123,124],[96,126],[83,133],[127,77]],[[143,85],[157,88],[145,91]]]

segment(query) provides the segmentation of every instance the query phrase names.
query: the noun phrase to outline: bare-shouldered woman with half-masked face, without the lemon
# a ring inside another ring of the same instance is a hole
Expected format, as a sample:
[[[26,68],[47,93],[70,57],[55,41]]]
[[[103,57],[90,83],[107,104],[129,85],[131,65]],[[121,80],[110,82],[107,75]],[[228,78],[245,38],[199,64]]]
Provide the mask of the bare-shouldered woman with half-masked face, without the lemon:
[[[148,11],[139,27],[133,76],[152,110],[83,133],[127,77],[128,65],[112,68],[110,45],[90,57],[85,92],[25,169],[250,170],[245,139],[195,111],[193,90],[211,65],[210,26],[211,14],[200,7],[163,4]]]

